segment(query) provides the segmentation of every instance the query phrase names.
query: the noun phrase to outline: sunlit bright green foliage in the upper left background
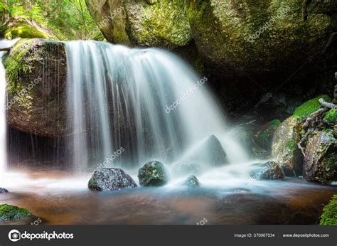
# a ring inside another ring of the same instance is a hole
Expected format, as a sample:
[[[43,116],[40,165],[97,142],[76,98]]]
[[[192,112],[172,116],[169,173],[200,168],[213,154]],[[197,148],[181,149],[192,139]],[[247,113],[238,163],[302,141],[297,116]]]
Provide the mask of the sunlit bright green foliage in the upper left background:
[[[0,23],[16,16],[46,26],[63,40],[96,38],[99,32],[85,0],[2,0]]]

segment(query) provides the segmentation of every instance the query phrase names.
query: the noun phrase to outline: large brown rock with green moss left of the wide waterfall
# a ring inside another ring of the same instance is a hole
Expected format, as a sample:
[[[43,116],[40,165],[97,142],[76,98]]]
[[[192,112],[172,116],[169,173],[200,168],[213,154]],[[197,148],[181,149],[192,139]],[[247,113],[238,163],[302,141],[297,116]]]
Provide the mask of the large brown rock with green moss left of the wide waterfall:
[[[66,132],[64,43],[21,39],[4,57],[9,125],[21,132],[58,137]]]

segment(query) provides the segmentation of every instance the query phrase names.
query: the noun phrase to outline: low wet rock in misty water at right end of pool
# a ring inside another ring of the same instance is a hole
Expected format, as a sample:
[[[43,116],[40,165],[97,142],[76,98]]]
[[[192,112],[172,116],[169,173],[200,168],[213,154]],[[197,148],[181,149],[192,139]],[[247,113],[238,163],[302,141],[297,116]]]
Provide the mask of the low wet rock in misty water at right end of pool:
[[[250,177],[256,180],[261,179],[282,179],[284,172],[281,166],[274,161],[268,161],[263,164],[254,164],[251,166]]]

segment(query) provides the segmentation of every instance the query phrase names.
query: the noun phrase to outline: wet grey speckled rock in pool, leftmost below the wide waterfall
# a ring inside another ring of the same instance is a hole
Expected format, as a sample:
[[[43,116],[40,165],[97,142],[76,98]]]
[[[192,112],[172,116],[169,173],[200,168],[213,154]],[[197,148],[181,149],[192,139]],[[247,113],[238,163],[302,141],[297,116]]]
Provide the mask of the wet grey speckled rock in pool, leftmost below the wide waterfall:
[[[92,191],[114,191],[134,187],[137,187],[137,184],[122,169],[97,169],[88,183],[88,188]]]

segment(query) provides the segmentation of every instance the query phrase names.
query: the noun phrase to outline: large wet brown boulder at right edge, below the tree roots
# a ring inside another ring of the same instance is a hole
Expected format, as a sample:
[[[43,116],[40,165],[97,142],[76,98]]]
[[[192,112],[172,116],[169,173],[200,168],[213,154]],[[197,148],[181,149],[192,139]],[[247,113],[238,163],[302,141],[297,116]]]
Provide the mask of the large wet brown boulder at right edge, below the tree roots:
[[[337,139],[333,132],[314,132],[306,143],[304,178],[323,184],[337,181]]]

